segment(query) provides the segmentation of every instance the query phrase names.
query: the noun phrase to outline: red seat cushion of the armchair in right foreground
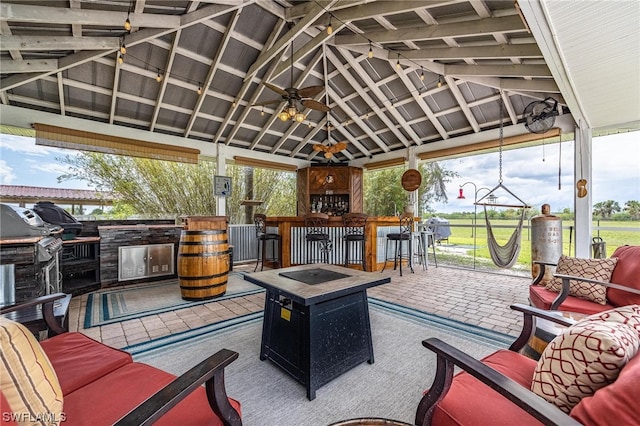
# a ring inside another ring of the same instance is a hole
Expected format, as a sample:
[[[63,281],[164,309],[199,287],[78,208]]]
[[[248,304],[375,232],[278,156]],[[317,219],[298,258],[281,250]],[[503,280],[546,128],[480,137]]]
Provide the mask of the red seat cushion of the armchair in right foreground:
[[[530,389],[536,361],[519,353],[499,350],[482,362]],[[451,389],[438,404],[431,424],[474,425],[485,419],[492,425],[540,425],[520,407],[466,372],[456,375]]]

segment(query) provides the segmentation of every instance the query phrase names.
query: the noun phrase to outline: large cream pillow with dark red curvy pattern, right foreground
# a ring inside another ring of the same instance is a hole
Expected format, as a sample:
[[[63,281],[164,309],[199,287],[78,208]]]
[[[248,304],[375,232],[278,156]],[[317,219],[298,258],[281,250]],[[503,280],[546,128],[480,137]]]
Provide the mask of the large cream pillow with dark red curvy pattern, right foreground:
[[[627,324],[576,324],[544,350],[531,390],[568,413],[582,398],[613,383],[639,346],[638,333]]]

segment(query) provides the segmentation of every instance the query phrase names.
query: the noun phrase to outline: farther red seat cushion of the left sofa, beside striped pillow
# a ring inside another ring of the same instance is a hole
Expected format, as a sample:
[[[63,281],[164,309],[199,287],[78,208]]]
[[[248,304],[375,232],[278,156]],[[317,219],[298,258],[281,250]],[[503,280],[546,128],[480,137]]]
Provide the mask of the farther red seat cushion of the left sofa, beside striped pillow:
[[[59,334],[40,345],[56,371],[64,395],[133,362],[128,352],[104,345],[82,333]]]

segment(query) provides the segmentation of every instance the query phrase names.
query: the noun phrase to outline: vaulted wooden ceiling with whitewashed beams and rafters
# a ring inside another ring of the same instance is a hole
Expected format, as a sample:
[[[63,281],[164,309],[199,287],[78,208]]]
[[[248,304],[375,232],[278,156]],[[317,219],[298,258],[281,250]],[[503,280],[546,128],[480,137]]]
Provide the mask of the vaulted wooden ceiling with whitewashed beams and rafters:
[[[562,114],[574,107],[513,1],[3,0],[0,12],[2,105],[88,131],[103,123],[283,161],[324,160],[313,144],[347,141],[332,159],[347,162],[501,121],[526,133],[525,106],[548,96]],[[263,82],[291,78],[324,86],[314,99],[331,111],[281,122],[284,101],[254,105],[279,99]]]

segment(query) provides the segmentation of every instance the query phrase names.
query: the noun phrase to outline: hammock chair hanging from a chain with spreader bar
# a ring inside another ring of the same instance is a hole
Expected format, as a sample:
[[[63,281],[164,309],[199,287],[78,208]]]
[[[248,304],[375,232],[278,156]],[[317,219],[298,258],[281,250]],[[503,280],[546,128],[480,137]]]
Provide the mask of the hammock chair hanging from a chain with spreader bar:
[[[502,92],[500,92],[500,177],[498,179],[498,185],[485,194],[482,198],[475,202],[476,205],[480,205],[484,207],[484,219],[485,224],[487,226],[487,247],[489,248],[489,253],[491,254],[491,259],[493,263],[499,268],[510,268],[512,267],[516,261],[518,260],[518,255],[520,254],[520,241],[522,237],[522,225],[524,224],[525,210],[530,208],[527,203],[522,201],[518,196],[516,196],[513,192],[511,192],[505,185],[502,183],[502,143],[503,143],[503,124],[502,124],[502,116],[503,116],[503,102],[502,102]],[[498,189],[503,189],[507,193],[509,193],[513,198],[515,198],[519,204],[497,204],[494,201],[497,199],[495,192]],[[504,244],[500,245],[498,241],[496,241],[496,237],[493,234],[493,228],[491,227],[491,222],[489,221],[489,216],[487,215],[487,206],[492,207],[511,207],[511,208],[519,208],[521,209],[520,213],[520,221],[516,225],[516,229],[509,237],[509,240]]]

